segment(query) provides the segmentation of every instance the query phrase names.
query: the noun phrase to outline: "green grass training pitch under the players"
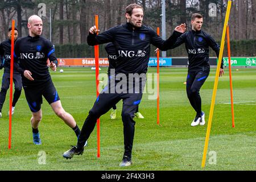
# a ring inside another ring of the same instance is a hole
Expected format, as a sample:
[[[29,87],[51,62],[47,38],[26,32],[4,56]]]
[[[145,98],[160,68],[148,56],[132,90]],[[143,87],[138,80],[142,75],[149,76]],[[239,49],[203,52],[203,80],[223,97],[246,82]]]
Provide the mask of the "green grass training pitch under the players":
[[[64,69],[64,73],[51,72],[52,80],[64,109],[73,115],[81,129],[96,100],[95,73],[90,68],[59,69]],[[106,73],[106,70],[103,68],[100,73]],[[205,170],[255,170],[256,69],[233,69],[234,129],[228,69],[225,71],[218,83]],[[148,69],[148,73],[155,72],[156,68]],[[200,91],[206,121],[215,72],[216,69],[211,70]],[[0,74],[2,77],[3,72]],[[185,92],[186,76],[185,68],[160,69],[160,126],[156,125],[156,100],[148,100],[150,94],[143,94],[139,110],[145,118],[135,119],[133,165],[127,168],[118,167],[123,155],[122,102],[117,105],[117,119],[110,120],[110,111],[101,117],[101,157],[97,158],[95,129],[84,154],[66,160],[62,154],[70,145],[76,144],[75,133],[53,114],[44,100],[39,126],[43,144],[35,146],[31,113],[23,91],[15,107],[12,148],[8,150],[8,92],[0,119],[0,170],[201,170],[207,124],[190,126],[195,111]],[[46,159],[45,164],[42,159]]]

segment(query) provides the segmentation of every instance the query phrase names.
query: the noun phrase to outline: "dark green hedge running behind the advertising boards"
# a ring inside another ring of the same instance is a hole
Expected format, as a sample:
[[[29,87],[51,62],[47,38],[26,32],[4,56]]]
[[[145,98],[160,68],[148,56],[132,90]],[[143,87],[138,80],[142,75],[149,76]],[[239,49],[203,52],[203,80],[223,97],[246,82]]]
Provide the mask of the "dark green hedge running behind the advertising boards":
[[[256,56],[256,40],[241,40],[231,41],[231,55],[235,56]],[[100,57],[107,57],[105,45],[100,45]],[[151,46],[151,56],[155,55],[155,47]],[[227,56],[227,46],[225,44],[224,56]],[[94,57],[94,48],[88,44],[65,44],[55,45],[55,53],[57,57],[61,58],[80,58],[80,57]],[[172,57],[187,57],[185,44],[175,49],[167,51],[167,56]],[[216,57],[215,52],[210,49],[210,57]]]

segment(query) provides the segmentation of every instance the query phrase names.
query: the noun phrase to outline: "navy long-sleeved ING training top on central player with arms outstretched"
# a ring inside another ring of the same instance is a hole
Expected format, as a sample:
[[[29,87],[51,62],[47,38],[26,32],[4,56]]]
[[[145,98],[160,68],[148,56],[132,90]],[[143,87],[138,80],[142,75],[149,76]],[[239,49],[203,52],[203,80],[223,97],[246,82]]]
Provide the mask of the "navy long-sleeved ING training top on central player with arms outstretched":
[[[112,42],[119,57],[115,72],[140,74],[147,72],[150,44],[161,50],[169,49],[180,35],[180,32],[174,31],[169,39],[163,40],[150,27],[142,26],[133,29],[130,23],[126,23],[98,35],[89,33],[87,42],[90,46]]]

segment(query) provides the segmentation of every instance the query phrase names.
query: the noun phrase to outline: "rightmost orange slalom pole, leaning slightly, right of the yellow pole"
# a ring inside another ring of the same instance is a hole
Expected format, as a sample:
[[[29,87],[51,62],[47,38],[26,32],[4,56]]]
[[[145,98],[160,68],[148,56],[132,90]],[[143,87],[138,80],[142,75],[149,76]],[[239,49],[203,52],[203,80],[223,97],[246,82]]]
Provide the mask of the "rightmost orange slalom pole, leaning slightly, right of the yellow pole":
[[[226,39],[228,42],[228,56],[229,56],[229,83],[230,83],[230,97],[231,97],[231,113],[232,113],[232,127],[234,125],[234,101],[233,101],[233,85],[232,85],[232,70],[231,70],[231,51],[229,39],[229,25],[226,26]]]

